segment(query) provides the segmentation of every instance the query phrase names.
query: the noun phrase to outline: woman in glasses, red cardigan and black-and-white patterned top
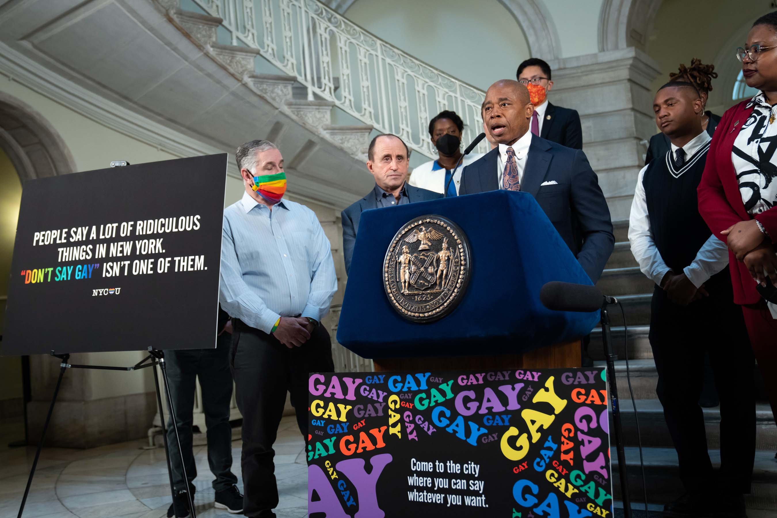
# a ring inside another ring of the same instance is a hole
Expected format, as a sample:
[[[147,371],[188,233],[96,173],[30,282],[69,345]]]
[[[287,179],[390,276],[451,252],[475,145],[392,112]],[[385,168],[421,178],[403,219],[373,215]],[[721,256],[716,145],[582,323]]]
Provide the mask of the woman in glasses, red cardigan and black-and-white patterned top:
[[[734,302],[777,415],[777,304],[756,290],[777,286],[777,12],[756,20],[737,57],[747,86],[761,92],[723,114],[699,183],[699,212],[729,247]]]

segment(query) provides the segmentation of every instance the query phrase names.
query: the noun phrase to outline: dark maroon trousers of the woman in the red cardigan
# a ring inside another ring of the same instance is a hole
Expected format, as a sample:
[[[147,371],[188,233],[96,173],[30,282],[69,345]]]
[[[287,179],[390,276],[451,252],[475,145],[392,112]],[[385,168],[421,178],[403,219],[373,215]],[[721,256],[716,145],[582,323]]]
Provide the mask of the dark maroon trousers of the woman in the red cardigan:
[[[777,415],[777,320],[766,307],[766,302],[742,306],[747,334],[753,344],[758,370],[764,378],[764,387],[772,405],[772,413]]]

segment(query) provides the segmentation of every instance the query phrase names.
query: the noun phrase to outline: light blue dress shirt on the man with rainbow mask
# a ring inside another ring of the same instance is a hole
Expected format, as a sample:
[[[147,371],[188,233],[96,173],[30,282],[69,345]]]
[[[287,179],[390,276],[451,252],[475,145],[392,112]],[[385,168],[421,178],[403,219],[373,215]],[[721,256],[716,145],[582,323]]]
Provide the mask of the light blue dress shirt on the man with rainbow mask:
[[[321,319],[337,291],[329,239],[315,213],[249,193],[224,210],[219,301],[229,315],[270,333],[278,317]]]

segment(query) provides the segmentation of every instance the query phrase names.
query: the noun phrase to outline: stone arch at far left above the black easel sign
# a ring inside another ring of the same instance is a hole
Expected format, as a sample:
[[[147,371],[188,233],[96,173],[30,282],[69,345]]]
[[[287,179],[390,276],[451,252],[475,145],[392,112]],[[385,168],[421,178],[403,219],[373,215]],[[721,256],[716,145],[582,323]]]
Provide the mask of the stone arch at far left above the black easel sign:
[[[32,106],[0,92],[0,148],[19,179],[75,172],[75,160],[57,130]]]

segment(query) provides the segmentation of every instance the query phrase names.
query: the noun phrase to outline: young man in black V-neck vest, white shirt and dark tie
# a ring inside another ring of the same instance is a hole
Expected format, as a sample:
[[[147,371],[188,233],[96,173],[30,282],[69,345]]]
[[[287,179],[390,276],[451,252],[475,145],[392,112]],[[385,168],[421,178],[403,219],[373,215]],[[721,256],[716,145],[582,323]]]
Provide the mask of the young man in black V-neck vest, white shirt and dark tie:
[[[711,141],[702,131],[704,105],[691,83],[669,82],[656,93],[653,111],[671,151],[639,172],[629,241],[639,268],[656,283],[650,308],[656,391],[686,492],[667,503],[664,516],[745,517],[755,454],[754,358],[733,303],[726,246],[699,215],[696,187]],[[720,393],[720,480],[698,403],[705,352]]]

